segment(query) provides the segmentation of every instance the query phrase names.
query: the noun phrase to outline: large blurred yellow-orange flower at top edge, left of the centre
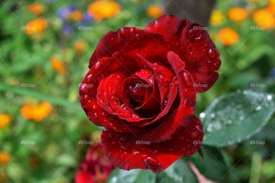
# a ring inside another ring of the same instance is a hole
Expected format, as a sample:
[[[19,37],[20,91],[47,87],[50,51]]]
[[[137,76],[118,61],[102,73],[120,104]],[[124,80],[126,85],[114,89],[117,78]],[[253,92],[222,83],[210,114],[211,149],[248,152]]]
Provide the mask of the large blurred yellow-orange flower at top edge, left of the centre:
[[[101,21],[103,18],[110,18],[120,11],[120,5],[114,1],[95,1],[88,6],[88,13]]]

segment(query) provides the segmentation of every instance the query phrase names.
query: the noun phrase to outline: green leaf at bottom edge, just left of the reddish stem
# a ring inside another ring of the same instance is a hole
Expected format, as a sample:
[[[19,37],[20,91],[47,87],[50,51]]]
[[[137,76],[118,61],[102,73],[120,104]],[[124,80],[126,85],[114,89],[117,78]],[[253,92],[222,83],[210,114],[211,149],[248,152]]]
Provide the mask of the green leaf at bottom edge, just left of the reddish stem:
[[[166,170],[157,174],[157,182],[161,183],[188,183],[188,182],[198,182],[197,176],[189,167],[189,165],[179,159],[169,166]]]

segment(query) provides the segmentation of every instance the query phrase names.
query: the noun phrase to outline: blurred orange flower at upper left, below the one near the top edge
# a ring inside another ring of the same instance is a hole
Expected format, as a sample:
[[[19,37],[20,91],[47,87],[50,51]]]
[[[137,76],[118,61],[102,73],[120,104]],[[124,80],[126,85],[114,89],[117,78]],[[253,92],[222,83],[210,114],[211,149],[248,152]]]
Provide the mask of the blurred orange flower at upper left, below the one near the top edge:
[[[34,34],[34,33],[40,33],[46,28],[47,28],[47,20],[44,18],[29,21],[27,25],[24,27],[28,35]]]

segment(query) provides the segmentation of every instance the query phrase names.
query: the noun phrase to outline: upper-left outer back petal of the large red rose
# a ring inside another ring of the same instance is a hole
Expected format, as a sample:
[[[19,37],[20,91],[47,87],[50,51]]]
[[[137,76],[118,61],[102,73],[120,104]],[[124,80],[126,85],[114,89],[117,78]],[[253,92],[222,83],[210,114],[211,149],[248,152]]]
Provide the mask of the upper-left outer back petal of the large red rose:
[[[89,68],[102,57],[111,57],[113,53],[130,55],[136,58],[136,53],[144,58],[155,61],[166,61],[168,51],[175,51],[171,41],[165,41],[163,35],[146,32],[136,27],[123,27],[117,32],[111,31],[105,34],[99,41],[92,57]]]

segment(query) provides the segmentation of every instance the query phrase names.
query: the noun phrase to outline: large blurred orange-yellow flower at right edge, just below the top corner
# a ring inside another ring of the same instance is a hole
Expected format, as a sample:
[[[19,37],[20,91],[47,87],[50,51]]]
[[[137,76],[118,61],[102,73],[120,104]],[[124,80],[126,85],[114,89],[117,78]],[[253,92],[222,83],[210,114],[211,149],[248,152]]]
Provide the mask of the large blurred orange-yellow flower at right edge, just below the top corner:
[[[272,12],[268,9],[260,9],[256,11],[253,15],[253,19],[260,27],[265,27],[266,29],[272,29],[275,27],[275,18]]]

